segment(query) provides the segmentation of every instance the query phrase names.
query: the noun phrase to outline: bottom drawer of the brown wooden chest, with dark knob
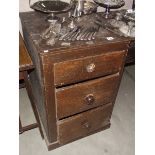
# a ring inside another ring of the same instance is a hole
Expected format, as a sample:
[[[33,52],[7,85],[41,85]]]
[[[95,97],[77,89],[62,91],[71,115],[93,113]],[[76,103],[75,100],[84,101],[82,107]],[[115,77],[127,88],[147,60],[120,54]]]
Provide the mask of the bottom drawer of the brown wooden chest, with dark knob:
[[[59,142],[65,144],[87,136],[110,123],[112,104],[83,112],[59,122]]]

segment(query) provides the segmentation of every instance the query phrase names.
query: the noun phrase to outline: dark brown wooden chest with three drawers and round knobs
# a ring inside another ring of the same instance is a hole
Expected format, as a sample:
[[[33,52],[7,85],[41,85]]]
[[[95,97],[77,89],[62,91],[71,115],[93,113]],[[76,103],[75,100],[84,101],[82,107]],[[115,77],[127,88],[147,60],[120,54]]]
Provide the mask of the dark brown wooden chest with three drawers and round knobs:
[[[44,16],[20,14],[36,68],[29,79],[51,150],[110,127],[129,39],[111,33],[113,41],[98,39],[91,45],[77,42],[70,47],[50,47],[39,42]]]

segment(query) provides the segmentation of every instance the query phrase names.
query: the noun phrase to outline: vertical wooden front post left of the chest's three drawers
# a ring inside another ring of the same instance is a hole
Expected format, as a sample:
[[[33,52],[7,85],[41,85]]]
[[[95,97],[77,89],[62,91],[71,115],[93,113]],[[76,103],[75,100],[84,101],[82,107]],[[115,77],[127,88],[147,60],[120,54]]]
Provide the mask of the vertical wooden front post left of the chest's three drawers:
[[[57,140],[57,124],[56,124],[56,102],[55,102],[55,87],[54,87],[54,72],[53,64],[51,61],[46,61],[44,57],[41,57],[42,71],[44,75],[44,97],[46,98],[46,114],[47,114],[47,126],[49,141],[54,142]],[[47,81],[46,78],[50,80]],[[50,84],[48,84],[50,82]]]

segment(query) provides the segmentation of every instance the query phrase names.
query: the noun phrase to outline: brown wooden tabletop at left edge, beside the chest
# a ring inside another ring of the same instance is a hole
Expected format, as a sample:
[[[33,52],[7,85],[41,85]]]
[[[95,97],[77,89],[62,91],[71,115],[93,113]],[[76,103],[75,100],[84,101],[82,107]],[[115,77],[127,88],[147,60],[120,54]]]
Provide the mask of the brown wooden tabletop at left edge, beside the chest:
[[[19,34],[19,71],[28,70],[34,68],[32,60],[25,47],[24,40]]]

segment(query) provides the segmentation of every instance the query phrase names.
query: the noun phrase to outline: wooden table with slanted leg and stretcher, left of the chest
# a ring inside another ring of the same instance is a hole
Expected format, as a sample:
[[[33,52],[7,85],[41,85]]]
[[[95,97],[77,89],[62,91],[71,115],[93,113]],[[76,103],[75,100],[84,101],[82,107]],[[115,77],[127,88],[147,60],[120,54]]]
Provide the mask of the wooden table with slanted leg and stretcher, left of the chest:
[[[37,112],[36,106],[34,104],[33,93],[31,90],[31,86],[29,84],[29,79],[28,79],[28,72],[32,71],[32,69],[34,69],[33,62],[32,62],[32,60],[28,54],[26,47],[25,47],[24,40],[23,40],[21,34],[19,34],[19,81],[23,80],[22,83],[25,84],[24,86],[25,86],[27,93],[28,93],[28,96],[30,98],[32,109],[33,109],[33,112],[34,112],[34,115],[35,115],[35,118],[37,121],[37,123],[33,123],[33,124],[30,124],[30,125],[23,127],[21,120],[19,118],[19,133],[21,134],[27,130],[39,127],[41,136],[43,138],[40,120],[38,117],[38,112]],[[23,87],[23,85],[22,85],[22,87]]]

